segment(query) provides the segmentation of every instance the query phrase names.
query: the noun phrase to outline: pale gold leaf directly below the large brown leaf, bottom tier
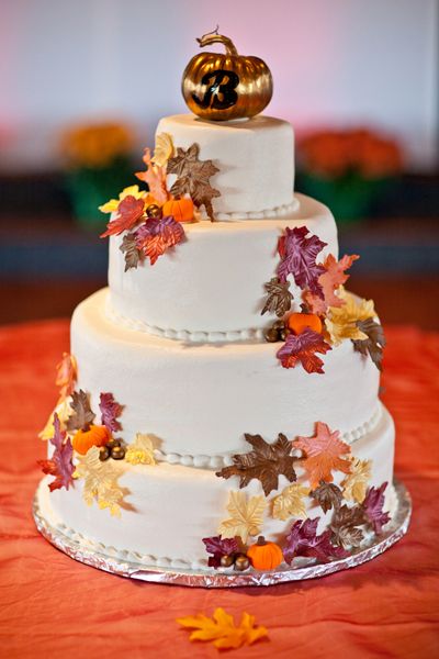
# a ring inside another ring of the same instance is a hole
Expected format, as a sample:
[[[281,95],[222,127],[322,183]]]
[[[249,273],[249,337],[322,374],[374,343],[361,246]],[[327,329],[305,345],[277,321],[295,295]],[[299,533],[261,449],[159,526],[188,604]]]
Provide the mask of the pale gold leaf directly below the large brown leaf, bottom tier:
[[[244,492],[229,492],[227,511],[230,517],[219,524],[218,534],[222,538],[238,536],[247,543],[249,536],[259,535],[266,507],[263,496],[247,499]]]

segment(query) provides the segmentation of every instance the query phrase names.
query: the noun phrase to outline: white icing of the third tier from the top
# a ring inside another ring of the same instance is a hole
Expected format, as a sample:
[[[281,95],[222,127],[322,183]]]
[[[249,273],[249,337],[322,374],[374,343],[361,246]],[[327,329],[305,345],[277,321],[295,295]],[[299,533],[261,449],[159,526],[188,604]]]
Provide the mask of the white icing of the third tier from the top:
[[[307,373],[282,368],[273,344],[192,344],[117,325],[108,298],[98,291],[72,317],[78,388],[92,407],[112,392],[124,405],[124,439],[155,435],[171,463],[221,467],[246,450],[244,433],[312,435],[324,421],[351,440],[376,423],[380,373],[351,342],[325,356],[324,375]]]

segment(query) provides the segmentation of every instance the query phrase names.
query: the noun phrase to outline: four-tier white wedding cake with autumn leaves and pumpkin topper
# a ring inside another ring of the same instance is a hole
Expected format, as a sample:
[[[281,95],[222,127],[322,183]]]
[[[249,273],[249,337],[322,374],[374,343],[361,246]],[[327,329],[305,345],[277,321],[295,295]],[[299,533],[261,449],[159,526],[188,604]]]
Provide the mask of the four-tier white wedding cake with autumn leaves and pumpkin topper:
[[[269,71],[201,45],[218,41],[184,74],[196,114],[161,119],[139,185],[102,206],[109,287],[74,313],[42,432],[50,527],[145,570],[341,560],[397,504],[384,336],[345,288],[358,256],[293,191],[293,130],[260,114]]]

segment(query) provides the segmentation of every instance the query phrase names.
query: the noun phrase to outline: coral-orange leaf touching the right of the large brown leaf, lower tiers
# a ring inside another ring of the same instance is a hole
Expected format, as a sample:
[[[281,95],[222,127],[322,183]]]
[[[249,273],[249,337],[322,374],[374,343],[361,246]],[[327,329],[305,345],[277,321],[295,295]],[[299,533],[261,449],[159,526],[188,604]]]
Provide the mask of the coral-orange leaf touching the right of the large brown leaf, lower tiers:
[[[311,487],[318,488],[320,481],[331,482],[333,470],[350,473],[351,463],[341,458],[350,454],[350,446],[340,439],[340,433],[330,432],[326,423],[317,422],[314,437],[297,437],[293,447],[305,454],[301,466],[305,469]]]

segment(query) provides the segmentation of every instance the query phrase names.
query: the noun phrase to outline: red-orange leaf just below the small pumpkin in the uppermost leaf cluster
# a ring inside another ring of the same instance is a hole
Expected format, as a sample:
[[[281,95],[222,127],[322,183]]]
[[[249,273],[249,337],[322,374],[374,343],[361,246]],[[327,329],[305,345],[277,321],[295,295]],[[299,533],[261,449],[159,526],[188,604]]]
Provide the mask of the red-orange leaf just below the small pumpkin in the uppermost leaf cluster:
[[[135,233],[137,249],[149,258],[150,265],[157,261],[170,247],[181,243],[184,230],[180,222],[168,215],[148,220]]]

